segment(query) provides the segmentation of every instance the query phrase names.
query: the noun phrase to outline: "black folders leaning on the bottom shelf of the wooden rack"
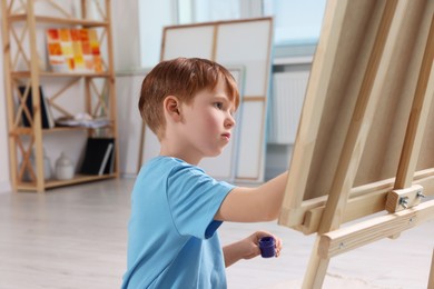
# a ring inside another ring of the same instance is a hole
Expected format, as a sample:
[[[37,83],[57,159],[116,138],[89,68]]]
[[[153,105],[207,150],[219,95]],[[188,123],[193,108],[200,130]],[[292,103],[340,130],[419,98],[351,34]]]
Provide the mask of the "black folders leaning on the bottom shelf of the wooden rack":
[[[80,173],[95,176],[112,173],[114,162],[114,138],[88,138]]]

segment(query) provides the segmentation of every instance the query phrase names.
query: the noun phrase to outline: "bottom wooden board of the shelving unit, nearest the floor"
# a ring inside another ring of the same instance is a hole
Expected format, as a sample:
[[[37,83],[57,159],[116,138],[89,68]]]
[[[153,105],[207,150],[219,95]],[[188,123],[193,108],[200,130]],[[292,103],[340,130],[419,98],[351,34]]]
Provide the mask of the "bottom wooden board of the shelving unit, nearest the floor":
[[[116,173],[110,175],[102,175],[102,176],[85,176],[85,175],[76,175],[70,180],[47,180],[45,182],[46,189],[53,189],[58,187],[63,186],[70,186],[70,185],[78,185],[82,182],[89,182],[89,181],[97,181],[97,180],[105,180],[105,179],[112,179],[116,178]],[[37,183],[36,182],[18,182],[17,189],[22,191],[36,191],[37,190]]]

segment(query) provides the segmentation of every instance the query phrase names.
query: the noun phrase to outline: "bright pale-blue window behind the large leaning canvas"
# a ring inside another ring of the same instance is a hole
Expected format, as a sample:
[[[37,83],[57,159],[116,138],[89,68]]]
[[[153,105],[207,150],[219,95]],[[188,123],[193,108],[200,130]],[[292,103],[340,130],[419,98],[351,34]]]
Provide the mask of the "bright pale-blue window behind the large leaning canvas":
[[[160,58],[162,28],[219,20],[273,16],[274,57],[312,54],[320,32],[326,0],[138,0],[141,66]]]

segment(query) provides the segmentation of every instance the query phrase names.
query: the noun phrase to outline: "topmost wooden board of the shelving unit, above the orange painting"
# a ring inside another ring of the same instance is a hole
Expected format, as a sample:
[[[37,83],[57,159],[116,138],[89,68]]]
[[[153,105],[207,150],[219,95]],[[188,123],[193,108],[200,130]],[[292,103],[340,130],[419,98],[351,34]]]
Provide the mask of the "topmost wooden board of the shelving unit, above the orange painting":
[[[12,14],[9,17],[10,22],[27,21],[27,13]],[[48,17],[48,16],[34,16],[37,23],[48,23],[48,24],[65,24],[65,26],[80,26],[80,27],[107,27],[108,21],[97,21],[97,20],[87,20],[87,19],[76,19],[76,18],[59,18],[59,17]]]

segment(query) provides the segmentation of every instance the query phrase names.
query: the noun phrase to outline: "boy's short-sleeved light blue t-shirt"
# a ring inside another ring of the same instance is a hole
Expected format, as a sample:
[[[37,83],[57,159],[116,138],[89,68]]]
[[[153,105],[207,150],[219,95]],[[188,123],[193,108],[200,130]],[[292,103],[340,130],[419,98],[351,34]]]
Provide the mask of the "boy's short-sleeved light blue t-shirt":
[[[176,158],[144,166],[131,196],[122,288],[226,288],[214,216],[233,188]]]

